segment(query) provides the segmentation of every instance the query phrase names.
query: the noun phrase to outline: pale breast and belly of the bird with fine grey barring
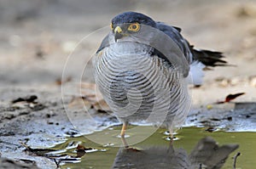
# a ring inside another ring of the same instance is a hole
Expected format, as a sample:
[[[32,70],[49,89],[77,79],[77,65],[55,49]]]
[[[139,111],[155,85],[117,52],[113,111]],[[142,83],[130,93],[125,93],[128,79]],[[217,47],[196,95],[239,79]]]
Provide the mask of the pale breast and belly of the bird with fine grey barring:
[[[186,80],[154,48],[115,42],[94,57],[96,85],[120,121],[179,127],[188,113]]]

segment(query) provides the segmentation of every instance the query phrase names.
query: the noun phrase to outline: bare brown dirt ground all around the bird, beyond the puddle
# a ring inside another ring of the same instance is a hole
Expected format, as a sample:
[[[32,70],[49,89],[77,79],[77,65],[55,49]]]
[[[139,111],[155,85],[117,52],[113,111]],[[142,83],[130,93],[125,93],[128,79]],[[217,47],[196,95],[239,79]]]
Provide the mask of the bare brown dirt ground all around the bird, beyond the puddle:
[[[255,131],[255,1],[1,0],[1,161],[16,161],[17,168],[55,168],[54,162],[24,151],[20,142],[50,147],[65,141],[67,135],[82,134],[70,116],[76,124],[90,127],[90,121],[80,118],[84,117],[81,100],[75,108],[65,108],[79,97],[81,81],[94,82],[91,56],[113,16],[127,10],[181,27],[183,36],[196,48],[221,51],[232,65],[207,70],[204,85],[191,88],[193,106],[186,126]],[[230,93],[245,94],[229,104],[213,104]],[[114,117],[99,113],[95,105],[91,107],[90,99],[82,102],[99,124],[83,133],[118,124]],[[0,168],[8,165],[14,163],[2,162]]]

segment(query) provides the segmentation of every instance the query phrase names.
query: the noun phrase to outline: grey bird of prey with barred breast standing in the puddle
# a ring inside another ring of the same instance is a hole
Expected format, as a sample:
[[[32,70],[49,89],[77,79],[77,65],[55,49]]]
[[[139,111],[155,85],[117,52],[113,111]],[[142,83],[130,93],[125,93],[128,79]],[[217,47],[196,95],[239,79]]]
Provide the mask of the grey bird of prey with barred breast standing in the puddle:
[[[94,56],[96,85],[123,123],[147,121],[171,136],[189,112],[189,82],[201,85],[205,66],[226,65],[222,53],[196,50],[181,29],[145,14],[125,12]]]

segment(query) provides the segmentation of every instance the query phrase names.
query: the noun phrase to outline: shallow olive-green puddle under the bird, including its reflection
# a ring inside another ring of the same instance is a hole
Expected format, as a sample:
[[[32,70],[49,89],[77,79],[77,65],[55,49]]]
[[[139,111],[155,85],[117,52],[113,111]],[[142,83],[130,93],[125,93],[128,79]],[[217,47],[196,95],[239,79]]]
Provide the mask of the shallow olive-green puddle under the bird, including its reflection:
[[[148,127],[142,128],[148,130]],[[119,131],[119,129],[120,127],[111,127],[102,132],[91,134],[90,137],[67,138],[67,142],[56,145],[53,149],[57,151],[49,152],[49,155],[58,156],[56,161],[61,168],[72,169],[111,168],[112,166],[115,168],[137,168],[137,166],[142,165],[144,165],[142,167],[154,168],[156,163],[165,167],[165,165],[177,165],[178,161],[185,162],[181,165],[189,165],[191,168],[204,168],[205,165],[200,160],[204,157],[207,158],[205,159],[207,165],[215,165],[215,168],[222,166],[221,168],[230,169],[234,168],[235,163],[236,168],[253,168],[256,166],[256,132],[207,132],[206,128],[183,127],[175,135],[177,139],[173,142],[173,147],[171,146],[172,151],[169,151],[170,142],[167,141],[166,130],[164,129],[158,129],[143,142],[131,145],[132,149],[128,150],[119,148],[120,138],[111,132],[113,130]],[[90,141],[91,138],[97,137],[102,139],[103,145]],[[207,140],[206,137],[211,138],[207,138]],[[108,138],[111,138],[110,141]],[[132,142],[132,138],[137,138],[137,135],[131,134],[127,137],[128,144]],[[214,140],[218,146],[214,145]],[[77,152],[78,144],[85,147],[85,153]],[[239,148],[236,144],[239,145]],[[237,156],[235,162],[234,156],[239,152],[241,155]],[[221,157],[222,155],[223,157]],[[225,161],[218,159],[224,159],[225,155],[228,156]],[[175,167],[173,166],[173,168]]]

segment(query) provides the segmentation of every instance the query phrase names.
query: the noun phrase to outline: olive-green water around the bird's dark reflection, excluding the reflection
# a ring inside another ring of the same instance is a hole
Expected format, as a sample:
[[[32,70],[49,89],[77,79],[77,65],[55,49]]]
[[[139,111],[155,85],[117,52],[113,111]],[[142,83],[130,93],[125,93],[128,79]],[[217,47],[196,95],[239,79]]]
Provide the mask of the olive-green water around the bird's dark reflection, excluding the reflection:
[[[115,129],[119,130],[120,127],[115,127]],[[111,135],[112,133],[109,131],[110,130],[107,129],[102,132],[96,132],[92,135],[105,135],[106,143],[108,143],[107,139],[110,135],[110,138],[116,139],[116,143],[119,144],[120,138]],[[167,136],[165,132],[166,130],[164,129],[158,129],[149,138],[145,139],[139,144],[132,145],[131,147],[137,149],[148,149],[150,147],[160,146],[168,149],[170,142],[166,141]],[[252,168],[253,166],[256,166],[256,132],[207,132],[205,128],[198,127],[183,127],[177,132],[178,133],[175,136],[178,139],[173,143],[174,149],[184,149],[184,151],[186,151],[189,155],[201,138],[211,137],[218,143],[219,146],[224,144],[239,144],[239,148],[234,150],[229,155],[222,168],[233,168],[234,159],[232,157],[234,157],[238,152],[240,152],[241,155],[237,158],[236,168]],[[90,139],[86,137],[87,136],[68,138],[66,143],[55,146],[54,149],[66,149],[65,154],[72,156],[77,155],[77,153],[75,151],[76,146],[70,146],[71,143],[82,144],[86,148],[95,149],[95,151],[89,151],[88,153],[84,154],[77,163],[62,163],[61,168],[111,168],[113,166],[113,161],[119,152],[119,147],[115,147],[117,144],[109,142],[108,144],[102,146],[101,144],[96,144],[90,141]],[[131,138],[132,137],[137,136],[131,135]],[[126,140],[129,143],[130,138],[126,138]],[[69,148],[67,149],[67,147]]]

